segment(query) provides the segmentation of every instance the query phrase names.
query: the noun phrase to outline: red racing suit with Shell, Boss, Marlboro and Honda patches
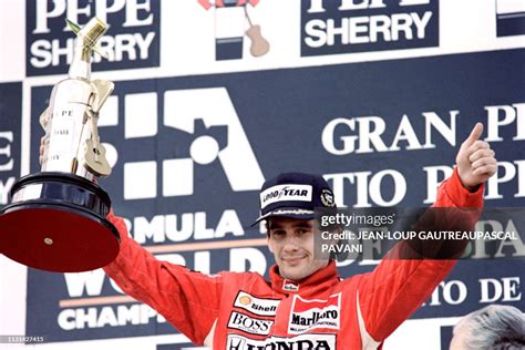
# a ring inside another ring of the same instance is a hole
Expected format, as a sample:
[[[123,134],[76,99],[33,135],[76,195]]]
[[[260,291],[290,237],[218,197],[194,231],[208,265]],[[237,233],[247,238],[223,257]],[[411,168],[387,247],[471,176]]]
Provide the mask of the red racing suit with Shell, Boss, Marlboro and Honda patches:
[[[457,172],[437,193],[437,207],[483,205],[483,186],[470,193]],[[340,279],[333,261],[300,284],[255,272],[207,276],[158,261],[127,236],[104,270],[130,296],[166,318],[195,344],[213,349],[380,349],[451,271],[455,260],[382,259],[372,272]],[[389,255],[395,254],[393,248]]]

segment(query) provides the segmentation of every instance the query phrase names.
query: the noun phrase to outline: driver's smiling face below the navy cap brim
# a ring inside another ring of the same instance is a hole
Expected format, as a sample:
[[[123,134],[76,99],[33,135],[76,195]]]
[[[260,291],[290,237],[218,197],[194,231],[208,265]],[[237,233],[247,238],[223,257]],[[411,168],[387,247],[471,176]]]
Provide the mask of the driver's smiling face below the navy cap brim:
[[[313,258],[315,220],[269,218],[268,247],[281,277],[300,281],[328,265]]]

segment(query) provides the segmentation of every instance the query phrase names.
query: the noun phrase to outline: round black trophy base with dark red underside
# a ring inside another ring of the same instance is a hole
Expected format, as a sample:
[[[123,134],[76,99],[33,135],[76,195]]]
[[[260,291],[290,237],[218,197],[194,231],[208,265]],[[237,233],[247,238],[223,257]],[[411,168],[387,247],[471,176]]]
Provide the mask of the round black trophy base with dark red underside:
[[[0,253],[42,270],[80,272],[103,267],[119,255],[120,236],[105,218],[107,194],[71,174],[39,173],[20,178],[12,204],[0,212]]]

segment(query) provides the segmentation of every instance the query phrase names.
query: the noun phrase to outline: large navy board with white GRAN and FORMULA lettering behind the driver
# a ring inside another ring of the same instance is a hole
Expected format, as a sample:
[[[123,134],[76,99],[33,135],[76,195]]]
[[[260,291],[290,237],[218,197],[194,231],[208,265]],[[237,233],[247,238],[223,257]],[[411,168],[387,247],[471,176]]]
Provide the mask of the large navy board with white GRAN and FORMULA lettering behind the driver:
[[[254,267],[264,274],[274,261],[266,248],[231,248],[251,239],[266,245],[258,228],[249,228],[264,178],[286,171],[320,172],[342,206],[431,203],[437,184],[452,172],[459,143],[482,121],[484,137],[496,150],[502,171],[487,184],[487,203],[523,207],[524,85],[511,68],[521,66],[525,50],[503,50],[116,82],[100,120],[114,173],[101,186],[110,193],[115,213],[128,218],[131,235],[157,254],[164,249],[162,258],[210,274]],[[491,89],[480,90],[480,80]],[[24,96],[31,97],[28,114],[43,111],[51,87],[31,87],[31,96]],[[300,122],[290,128],[290,120]],[[4,122],[11,121],[0,120]],[[35,155],[43,132],[35,117],[28,124],[34,173],[40,168]],[[18,127],[9,130],[16,134]],[[172,169],[173,161],[181,162]],[[460,261],[414,318],[464,315],[477,309],[480,300],[519,302],[512,291],[518,290],[519,281],[508,279],[519,276],[519,270],[504,257],[521,257],[523,248],[511,244],[515,243],[506,243],[494,254],[472,247],[480,259]],[[191,250],[176,250],[179,246]],[[494,261],[483,260],[485,256],[498,258],[497,271],[491,269]],[[257,261],[239,260],[245,257]],[[340,274],[352,276],[371,268],[343,261]],[[30,269],[27,332],[47,334],[50,341],[174,332],[153,316],[143,323],[141,317],[148,311],[131,308],[127,299],[89,306],[94,298],[124,296],[103,271],[87,276],[73,284],[70,277]],[[78,306],[62,307],[63,300],[78,301]],[[277,306],[278,300],[274,302]],[[112,312],[103,310],[105,306]],[[275,315],[276,310],[265,312]],[[73,329],[60,327],[61,313],[64,325]],[[104,323],[105,318],[113,319],[112,313],[117,323]],[[120,326],[119,320],[127,318],[132,321]]]

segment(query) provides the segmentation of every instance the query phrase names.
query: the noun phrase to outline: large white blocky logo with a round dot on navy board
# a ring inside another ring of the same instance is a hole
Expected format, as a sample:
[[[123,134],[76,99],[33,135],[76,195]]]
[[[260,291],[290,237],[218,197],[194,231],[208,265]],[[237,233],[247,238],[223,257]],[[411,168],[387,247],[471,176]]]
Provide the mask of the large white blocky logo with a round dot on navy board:
[[[164,111],[162,117],[157,116],[159,101]],[[216,159],[234,192],[260,188],[262,172],[225,87],[166,90],[161,96],[157,92],[130,93],[120,100],[112,96],[101,112],[100,126],[119,124],[116,115],[122,102],[124,143],[168,142],[161,147],[164,154],[154,154],[157,159],[124,162],[124,199],[193,195],[198,175],[195,174],[196,165],[209,165]],[[162,125],[158,125],[159,121]],[[204,135],[203,130],[207,131]],[[182,137],[174,137],[173,131],[185,134],[189,156],[173,157],[174,153],[184,152],[165,150],[178,147]],[[113,163],[116,162],[116,150],[130,150],[124,143],[104,144]],[[157,186],[158,178],[162,178],[161,186]],[[161,194],[157,188],[162,188]]]

